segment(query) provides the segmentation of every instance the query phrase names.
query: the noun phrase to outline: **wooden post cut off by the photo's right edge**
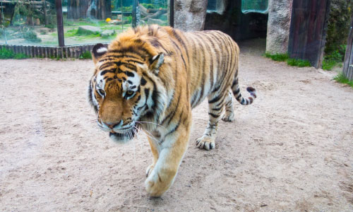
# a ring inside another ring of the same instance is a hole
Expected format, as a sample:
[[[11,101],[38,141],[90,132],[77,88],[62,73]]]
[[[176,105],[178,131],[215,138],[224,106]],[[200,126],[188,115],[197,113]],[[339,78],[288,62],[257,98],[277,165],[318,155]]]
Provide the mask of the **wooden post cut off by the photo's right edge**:
[[[345,54],[345,61],[343,61],[343,75],[347,77],[350,81],[353,81],[353,16],[351,18],[351,24],[349,25],[349,34],[347,38],[347,49]]]

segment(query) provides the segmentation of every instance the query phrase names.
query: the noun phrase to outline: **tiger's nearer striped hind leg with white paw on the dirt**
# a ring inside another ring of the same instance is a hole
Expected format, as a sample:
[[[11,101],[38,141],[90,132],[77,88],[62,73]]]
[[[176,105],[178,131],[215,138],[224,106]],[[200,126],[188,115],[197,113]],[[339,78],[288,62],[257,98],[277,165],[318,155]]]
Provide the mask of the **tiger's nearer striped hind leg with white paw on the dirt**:
[[[217,124],[220,120],[223,107],[225,107],[225,99],[227,98],[226,92],[211,93],[208,96],[208,126],[201,138],[196,140],[198,148],[210,150],[215,148],[215,137],[217,132]]]

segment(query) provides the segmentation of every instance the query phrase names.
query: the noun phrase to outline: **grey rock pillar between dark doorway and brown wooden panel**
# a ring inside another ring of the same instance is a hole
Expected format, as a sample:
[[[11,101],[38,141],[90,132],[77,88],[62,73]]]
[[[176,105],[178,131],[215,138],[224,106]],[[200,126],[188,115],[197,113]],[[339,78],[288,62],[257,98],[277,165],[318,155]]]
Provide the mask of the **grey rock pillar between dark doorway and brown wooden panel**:
[[[269,1],[266,52],[287,53],[291,15],[292,0]]]

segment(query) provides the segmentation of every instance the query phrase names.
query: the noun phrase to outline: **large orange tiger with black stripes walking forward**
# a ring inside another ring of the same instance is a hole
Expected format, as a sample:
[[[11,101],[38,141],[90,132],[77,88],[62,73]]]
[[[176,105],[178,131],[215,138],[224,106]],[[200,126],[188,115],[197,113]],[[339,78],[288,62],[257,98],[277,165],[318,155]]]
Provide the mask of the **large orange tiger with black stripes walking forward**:
[[[118,143],[145,131],[152,152],[145,189],[161,196],[174,182],[189,144],[191,110],[208,98],[208,126],[196,146],[215,148],[217,123],[234,120],[232,94],[250,105],[256,89],[239,89],[239,47],[216,30],[183,32],[169,26],[130,28],[109,45],[92,47],[95,71],[88,98],[97,125]],[[222,111],[225,111],[221,117]]]

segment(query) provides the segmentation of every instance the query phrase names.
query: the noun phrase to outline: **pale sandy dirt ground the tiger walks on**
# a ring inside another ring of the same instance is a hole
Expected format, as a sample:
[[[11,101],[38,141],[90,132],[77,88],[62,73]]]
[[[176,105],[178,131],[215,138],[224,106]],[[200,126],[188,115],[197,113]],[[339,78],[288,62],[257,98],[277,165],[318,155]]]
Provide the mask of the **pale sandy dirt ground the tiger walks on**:
[[[216,148],[196,148],[207,102],[174,185],[145,192],[145,134],[124,145],[98,129],[86,101],[92,61],[0,60],[0,211],[353,211],[353,89],[334,73],[261,56],[241,44],[253,105],[234,102]]]

